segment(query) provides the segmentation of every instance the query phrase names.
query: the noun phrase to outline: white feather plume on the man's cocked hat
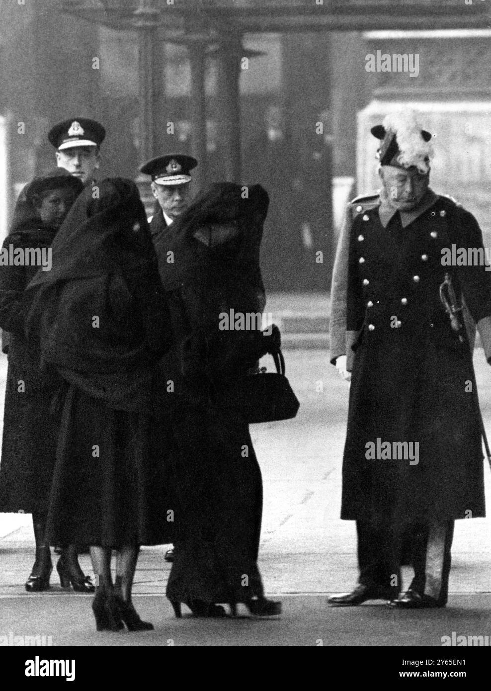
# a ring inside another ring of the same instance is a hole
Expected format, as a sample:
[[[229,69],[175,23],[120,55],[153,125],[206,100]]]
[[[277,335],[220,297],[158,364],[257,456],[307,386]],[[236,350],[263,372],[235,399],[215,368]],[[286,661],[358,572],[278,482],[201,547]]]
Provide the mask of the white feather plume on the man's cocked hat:
[[[416,166],[420,173],[430,170],[429,161],[434,158],[434,149],[429,142],[425,142],[421,135],[423,127],[418,122],[414,111],[407,108],[404,111],[389,113],[383,120],[385,130],[395,133],[398,148],[401,153],[397,160],[404,167]]]

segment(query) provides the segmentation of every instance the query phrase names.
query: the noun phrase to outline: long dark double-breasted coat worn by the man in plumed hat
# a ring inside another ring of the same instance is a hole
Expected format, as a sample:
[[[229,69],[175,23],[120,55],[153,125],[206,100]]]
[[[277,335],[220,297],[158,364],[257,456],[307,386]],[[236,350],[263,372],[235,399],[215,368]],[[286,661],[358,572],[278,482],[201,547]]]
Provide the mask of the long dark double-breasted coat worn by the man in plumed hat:
[[[347,330],[359,337],[341,517],[405,522],[483,516],[471,352],[450,327],[439,297],[450,272],[474,321],[491,315],[485,267],[441,263],[441,249],[452,243],[482,247],[481,230],[471,214],[443,197],[407,227],[392,223],[383,227],[374,208],[354,220],[350,238]],[[418,463],[370,459],[367,443],[377,439],[391,446],[418,442]]]

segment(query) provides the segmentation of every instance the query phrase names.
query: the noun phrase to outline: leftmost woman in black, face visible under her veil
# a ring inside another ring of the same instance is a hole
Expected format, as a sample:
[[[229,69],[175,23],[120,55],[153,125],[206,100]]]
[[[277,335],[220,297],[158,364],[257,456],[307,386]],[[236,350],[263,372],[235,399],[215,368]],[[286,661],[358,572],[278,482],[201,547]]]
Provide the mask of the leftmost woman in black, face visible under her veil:
[[[8,252],[34,249],[46,252],[83,185],[63,168],[32,180],[19,195],[10,233],[3,242]],[[28,254],[26,254],[26,258]],[[42,261],[43,256],[39,254]],[[48,269],[49,264],[46,265]],[[26,583],[28,592],[50,587],[51,552],[46,542],[46,514],[59,420],[50,409],[59,381],[43,377],[39,348],[24,337],[27,305],[24,289],[39,265],[0,267],[0,326],[9,337],[8,371],[0,464],[0,511],[32,513],[36,560]],[[48,273],[42,272],[42,273]],[[93,592],[81,571],[75,545],[64,543],[57,570],[62,585]]]

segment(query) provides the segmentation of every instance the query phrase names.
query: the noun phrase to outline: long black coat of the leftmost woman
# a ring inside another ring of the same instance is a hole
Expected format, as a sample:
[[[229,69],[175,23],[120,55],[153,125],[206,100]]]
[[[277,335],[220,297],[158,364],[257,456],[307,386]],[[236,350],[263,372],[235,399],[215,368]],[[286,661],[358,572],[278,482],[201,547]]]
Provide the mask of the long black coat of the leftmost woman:
[[[31,224],[6,237],[3,247],[49,247],[55,229]],[[10,334],[0,464],[0,511],[47,510],[55,464],[57,419],[50,404],[57,381],[41,377],[39,350],[24,337],[23,292],[35,266],[0,267],[0,326]],[[25,385],[23,390],[22,382]]]

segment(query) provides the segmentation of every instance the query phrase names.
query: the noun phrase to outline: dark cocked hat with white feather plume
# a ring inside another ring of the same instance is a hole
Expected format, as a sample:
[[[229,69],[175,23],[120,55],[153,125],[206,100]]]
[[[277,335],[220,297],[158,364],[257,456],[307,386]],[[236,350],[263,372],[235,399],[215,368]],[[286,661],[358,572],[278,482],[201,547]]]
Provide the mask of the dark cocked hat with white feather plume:
[[[390,113],[383,124],[370,130],[381,140],[377,158],[383,166],[418,169],[423,175],[430,171],[430,160],[434,157],[430,144],[432,135],[421,128],[416,113],[407,109]]]

